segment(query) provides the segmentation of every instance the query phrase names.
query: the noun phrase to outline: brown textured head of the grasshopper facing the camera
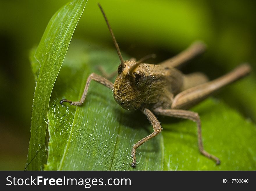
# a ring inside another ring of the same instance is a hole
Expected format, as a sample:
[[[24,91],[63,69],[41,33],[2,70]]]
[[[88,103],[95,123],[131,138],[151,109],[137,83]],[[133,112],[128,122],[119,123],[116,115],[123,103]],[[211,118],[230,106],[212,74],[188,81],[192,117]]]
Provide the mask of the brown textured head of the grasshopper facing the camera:
[[[136,110],[147,99],[150,74],[146,64],[124,61],[118,66],[118,76],[113,85],[115,101],[124,109]]]

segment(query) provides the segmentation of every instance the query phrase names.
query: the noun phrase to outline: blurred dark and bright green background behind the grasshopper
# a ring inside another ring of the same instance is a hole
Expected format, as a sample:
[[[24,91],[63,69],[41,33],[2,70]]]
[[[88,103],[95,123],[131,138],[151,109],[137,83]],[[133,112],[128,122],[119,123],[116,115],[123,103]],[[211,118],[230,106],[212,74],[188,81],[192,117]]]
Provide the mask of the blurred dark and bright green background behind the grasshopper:
[[[66,2],[0,1],[0,170],[24,169],[35,88],[29,51]],[[150,61],[157,63],[202,40],[208,51],[183,67],[184,73],[201,71],[214,79],[239,63],[250,63],[252,74],[216,97],[256,122],[255,2],[88,0],[73,38],[100,43],[102,50],[113,47],[113,42],[97,2],[106,12],[121,52],[137,59],[156,53],[157,58]]]

